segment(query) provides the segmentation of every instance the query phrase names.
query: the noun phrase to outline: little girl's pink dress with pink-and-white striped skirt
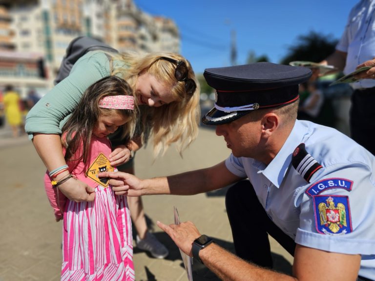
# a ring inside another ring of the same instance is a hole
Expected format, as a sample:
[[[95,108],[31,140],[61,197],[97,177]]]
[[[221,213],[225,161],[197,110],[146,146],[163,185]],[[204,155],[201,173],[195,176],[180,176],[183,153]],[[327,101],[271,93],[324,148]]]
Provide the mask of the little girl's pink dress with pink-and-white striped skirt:
[[[90,166],[100,154],[109,158],[110,153],[110,142],[93,136]],[[95,187],[95,201],[66,201],[61,280],[133,281],[133,240],[126,196],[117,196],[110,185],[104,187],[86,177],[87,170],[80,162],[71,171]]]

